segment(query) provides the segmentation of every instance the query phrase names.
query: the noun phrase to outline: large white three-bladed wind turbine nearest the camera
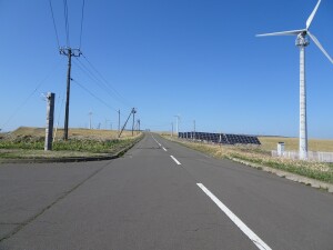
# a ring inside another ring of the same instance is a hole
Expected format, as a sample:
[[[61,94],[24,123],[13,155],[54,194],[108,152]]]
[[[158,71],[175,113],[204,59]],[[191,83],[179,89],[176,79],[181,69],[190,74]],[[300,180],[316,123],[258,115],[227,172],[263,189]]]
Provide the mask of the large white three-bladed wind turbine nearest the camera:
[[[297,36],[296,46],[300,48],[300,159],[307,159],[307,129],[306,129],[306,90],[305,90],[305,47],[310,44],[307,36],[333,63],[333,59],[324,50],[319,40],[309,31],[313,18],[317,11],[321,0],[317,1],[314,10],[306,20],[306,28],[302,30],[290,30],[274,33],[256,34],[256,37],[269,36]]]

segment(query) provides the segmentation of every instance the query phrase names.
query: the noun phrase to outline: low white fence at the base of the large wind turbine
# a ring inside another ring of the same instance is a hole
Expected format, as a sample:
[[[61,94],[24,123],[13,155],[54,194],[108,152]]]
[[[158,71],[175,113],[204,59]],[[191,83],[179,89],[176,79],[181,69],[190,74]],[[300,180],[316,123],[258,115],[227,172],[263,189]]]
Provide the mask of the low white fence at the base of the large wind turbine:
[[[283,151],[281,153],[278,150],[272,150],[272,157],[282,157],[293,160],[300,159],[299,151]],[[307,151],[309,161],[319,161],[319,162],[333,162],[333,152],[314,152]]]

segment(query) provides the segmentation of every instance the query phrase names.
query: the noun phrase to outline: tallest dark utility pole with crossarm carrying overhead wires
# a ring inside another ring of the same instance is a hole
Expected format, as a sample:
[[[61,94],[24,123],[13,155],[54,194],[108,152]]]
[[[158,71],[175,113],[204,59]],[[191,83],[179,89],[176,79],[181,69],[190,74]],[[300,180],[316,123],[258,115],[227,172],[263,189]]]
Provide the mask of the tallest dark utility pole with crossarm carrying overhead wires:
[[[71,49],[70,47],[60,48],[60,54],[68,57],[68,71],[67,71],[67,91],[65,91],[65,110],[64,110],[64,131],[63,140],[68,140],[68,124],[69,124],[69,102],[70,102],[70,88],[71,88],[71,67],[72,57],[80,57],[82,53],[80,49]]]

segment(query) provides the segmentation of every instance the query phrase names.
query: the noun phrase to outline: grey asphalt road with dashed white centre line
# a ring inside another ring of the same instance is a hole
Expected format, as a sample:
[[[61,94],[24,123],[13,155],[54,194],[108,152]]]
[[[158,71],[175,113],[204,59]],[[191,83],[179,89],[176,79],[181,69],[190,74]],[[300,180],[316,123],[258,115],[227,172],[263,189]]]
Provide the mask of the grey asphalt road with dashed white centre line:
[[[148,133],[101,162],[1,164],[0,250],[333,249],[333,196]]]

